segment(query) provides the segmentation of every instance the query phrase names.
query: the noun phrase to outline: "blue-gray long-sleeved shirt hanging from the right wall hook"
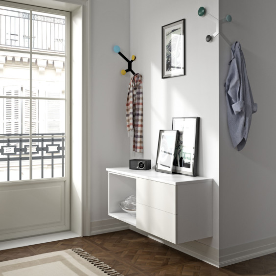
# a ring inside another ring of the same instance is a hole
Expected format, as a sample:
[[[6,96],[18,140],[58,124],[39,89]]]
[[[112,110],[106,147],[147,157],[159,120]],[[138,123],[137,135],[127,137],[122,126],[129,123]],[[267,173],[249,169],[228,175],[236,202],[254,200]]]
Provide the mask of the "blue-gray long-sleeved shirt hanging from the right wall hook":
[[[239,42],[231,46],[232,58],[225,83],[227,120],[233,147],[242,150],[248,138],[252,114],[257,111]]]

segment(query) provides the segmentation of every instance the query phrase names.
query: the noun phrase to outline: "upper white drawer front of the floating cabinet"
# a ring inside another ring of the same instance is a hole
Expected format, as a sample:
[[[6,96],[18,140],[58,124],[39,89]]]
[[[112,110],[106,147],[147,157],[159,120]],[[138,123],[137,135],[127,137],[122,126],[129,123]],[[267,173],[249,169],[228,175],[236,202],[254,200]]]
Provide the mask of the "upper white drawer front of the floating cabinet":
[[[136,200],[140,204],[177,214],[175,185],[137,178]]]

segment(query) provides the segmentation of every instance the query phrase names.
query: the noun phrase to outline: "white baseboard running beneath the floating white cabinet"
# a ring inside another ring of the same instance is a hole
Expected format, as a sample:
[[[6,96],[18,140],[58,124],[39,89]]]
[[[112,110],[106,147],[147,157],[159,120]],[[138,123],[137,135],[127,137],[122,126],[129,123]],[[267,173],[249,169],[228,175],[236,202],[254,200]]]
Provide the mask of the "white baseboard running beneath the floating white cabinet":
[[[172,247],[178,251],[181,251],[183,253],[186,253],[190,256],[193,256],[197,259],[200,259],[204,262],[207,262],[213,266],[219,267],[219,262],[218,262],[218,256],[219,256],[219,250],[210,246],[207,246],[203,243],[200,243],[198,241],[191,241],[191,242],[186,242],[186,243],[181,243],[181,244],[174,244],[168,241],[165,241],[159,237],[156,237],[154,235],[151,235],[145,231],[139,230],[134,226],[130,226],[130,230],[134,230],[144,236],[147,236],[151,239],[154,239],[162,244],[165,244],[169,247]]]

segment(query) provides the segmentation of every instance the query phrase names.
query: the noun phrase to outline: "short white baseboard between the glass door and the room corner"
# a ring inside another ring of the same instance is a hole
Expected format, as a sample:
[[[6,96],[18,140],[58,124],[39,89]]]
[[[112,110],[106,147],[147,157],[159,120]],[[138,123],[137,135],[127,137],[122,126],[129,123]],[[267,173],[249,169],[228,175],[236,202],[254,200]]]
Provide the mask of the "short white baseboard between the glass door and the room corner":
[[[115,232],[129,229],[129,224],[117,219],[106,219],[91,222],[90,235],[98,235],[103,233]]]

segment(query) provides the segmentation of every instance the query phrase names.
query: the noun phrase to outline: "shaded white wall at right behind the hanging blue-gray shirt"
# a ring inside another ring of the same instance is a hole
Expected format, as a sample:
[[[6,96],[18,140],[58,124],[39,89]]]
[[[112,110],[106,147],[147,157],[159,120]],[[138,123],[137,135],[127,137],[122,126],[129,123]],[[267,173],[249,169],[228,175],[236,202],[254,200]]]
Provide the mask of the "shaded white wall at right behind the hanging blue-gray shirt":
[[[254,101],[245,148],[232,148],[227,126],[224,82],[230,47],[220,39],[220,249],[276,237],[276,36],[275,0],[220,0],[220,18],[232,16],[221,32],[239,41]]]

